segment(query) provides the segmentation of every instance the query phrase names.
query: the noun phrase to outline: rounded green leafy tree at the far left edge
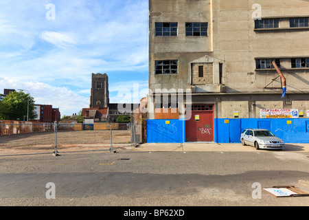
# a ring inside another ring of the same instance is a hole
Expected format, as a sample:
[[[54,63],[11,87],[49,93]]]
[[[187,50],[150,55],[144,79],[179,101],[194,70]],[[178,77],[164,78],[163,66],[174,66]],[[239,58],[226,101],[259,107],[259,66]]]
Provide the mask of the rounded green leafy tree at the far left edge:
[[[34,98],[23,91],[12,91],[0,102],[0,118],[4,120],[27,120],[28,110],[29,120],[36,118]]]

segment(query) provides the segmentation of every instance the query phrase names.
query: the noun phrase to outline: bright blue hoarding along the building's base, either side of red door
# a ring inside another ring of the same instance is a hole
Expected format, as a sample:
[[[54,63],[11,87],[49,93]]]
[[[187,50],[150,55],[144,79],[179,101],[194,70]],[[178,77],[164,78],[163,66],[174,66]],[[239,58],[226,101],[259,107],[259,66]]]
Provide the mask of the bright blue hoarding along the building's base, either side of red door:
[[[244,129],[268,129],[286,143],[309,143],[308,118],[215,118],[217,143],[240,143]],[[147,120],[148,143],[185,142],[185,120]]]

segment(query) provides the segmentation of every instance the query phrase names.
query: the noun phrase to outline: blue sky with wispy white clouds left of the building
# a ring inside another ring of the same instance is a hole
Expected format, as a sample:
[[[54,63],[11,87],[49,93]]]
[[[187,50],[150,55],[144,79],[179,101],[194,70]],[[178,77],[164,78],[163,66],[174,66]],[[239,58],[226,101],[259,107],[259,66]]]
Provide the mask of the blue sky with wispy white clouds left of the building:
[[[61,115],[89,107],[91,74],[111,103],[148,93],[148,0],[1,0],[0,94],[22,89]]]

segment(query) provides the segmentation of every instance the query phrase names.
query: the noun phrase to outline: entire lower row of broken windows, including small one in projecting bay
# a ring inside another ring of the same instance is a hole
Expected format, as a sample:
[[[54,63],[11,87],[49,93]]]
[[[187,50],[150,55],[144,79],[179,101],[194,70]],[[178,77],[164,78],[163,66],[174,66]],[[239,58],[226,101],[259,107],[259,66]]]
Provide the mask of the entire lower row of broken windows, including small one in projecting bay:
[[[256,69],[275,69],[272,63],[273,59],[256,59]],[[309,58],[291,58],[291,68],[309,68]],[[276,65],[280,68],[280,60],[275,59]],[[202,70],[203,67],[201,67]],[[200,68],[198,69],[198,76],[203,77]],[[177,60],[166,60],[166,61],[155,61],[155,74],[177,74],[178,73],[178,61]]]

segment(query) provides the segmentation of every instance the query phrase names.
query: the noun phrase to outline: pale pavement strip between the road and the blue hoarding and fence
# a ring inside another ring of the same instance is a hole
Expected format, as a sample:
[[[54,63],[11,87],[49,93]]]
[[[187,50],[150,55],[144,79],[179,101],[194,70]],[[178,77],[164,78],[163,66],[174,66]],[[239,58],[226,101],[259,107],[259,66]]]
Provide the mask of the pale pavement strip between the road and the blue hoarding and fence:
[[[69,153],[74,151],[109,151],[110,144],[62,144],[58,146],[59,153]],[[145,143],[137,146],[127,144],[113,144],[113,151],[234,151],[234,152],[257,152],[253,146],[242,146],[242,144],[218,144],[218,143],[201,143],[201,142],[185,142],[185,143]],[[258,152],[271,151],[261,149]],[[309,152],[309,144],[286,144],[286,148],[282,151],[288,152]],[[18,147],[18,148],[0,148],[0,156],[8,155],[27,155],[37,153],[53,153],[54,147],[38,149],[36,146]]]

